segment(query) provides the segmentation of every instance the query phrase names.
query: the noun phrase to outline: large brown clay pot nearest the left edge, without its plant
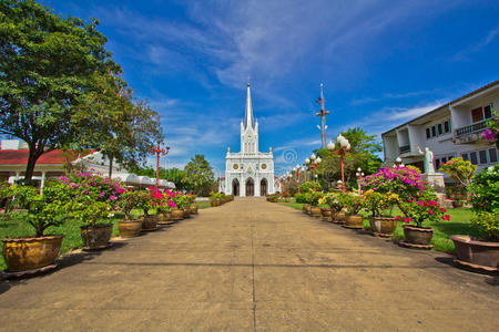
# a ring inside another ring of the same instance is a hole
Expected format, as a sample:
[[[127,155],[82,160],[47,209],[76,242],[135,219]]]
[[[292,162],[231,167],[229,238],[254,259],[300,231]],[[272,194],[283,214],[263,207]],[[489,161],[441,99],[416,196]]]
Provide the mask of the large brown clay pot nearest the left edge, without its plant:
[[[53,264],[61,250],[63,235],[40,238],[3,239],[7,272],[35,270]]]

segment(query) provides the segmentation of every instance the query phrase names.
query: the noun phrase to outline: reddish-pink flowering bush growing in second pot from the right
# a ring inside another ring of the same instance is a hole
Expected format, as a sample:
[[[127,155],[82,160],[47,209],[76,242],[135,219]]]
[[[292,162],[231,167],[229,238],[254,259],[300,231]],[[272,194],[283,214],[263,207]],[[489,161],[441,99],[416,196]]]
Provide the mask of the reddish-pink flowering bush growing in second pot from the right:
[[[398,201],[403,216],[397,216],[397,220],[404,220],[405,224],[415,224],[422,227],[425,221],[438,222],[440,220],[450,220],[449,215],[445,215],[446,209],[441,208],[435,194],[426,191],[424,195]]]

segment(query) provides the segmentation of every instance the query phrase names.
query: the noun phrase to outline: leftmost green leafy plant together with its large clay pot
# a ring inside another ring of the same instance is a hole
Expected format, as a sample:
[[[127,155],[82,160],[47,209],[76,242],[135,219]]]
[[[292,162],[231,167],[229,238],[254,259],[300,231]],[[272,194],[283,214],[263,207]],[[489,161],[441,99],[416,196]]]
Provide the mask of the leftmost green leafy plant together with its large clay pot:
[[[65,220],[64,203],[67,193],[60,183],[47,183],[43,193],[29,186],[14,186],[16,204],[27,209],[27,217],[20,218],[33,227],[34,237],[2,239],[2,255],[7,263],[6,272],[40,271],[54,267],[64,235],[45,235],[51,226],[62,225]]]

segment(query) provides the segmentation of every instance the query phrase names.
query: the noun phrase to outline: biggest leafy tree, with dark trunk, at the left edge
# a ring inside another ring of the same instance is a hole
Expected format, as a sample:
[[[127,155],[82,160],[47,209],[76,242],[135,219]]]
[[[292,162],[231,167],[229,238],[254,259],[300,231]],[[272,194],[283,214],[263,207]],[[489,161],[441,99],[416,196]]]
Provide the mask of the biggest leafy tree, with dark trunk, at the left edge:
[[[33,0],[0,1],[0,134],[28,144],[27,180],[44,152],[74,139],[73,116],[95,77],[119,71],[98,24]]]

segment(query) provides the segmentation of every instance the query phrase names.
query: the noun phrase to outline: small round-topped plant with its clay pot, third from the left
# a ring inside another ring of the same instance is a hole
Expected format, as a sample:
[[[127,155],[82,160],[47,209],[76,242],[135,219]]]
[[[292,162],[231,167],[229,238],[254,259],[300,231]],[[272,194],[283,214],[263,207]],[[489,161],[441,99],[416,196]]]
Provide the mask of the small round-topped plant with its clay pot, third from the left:
[[[118,221],[118,230],[122,238],[133,238],[141,234],[143,219],[132,218],[132,210],[139,206],[141,199],[138,193],[129,188],[118,200],[118,206],[125,215],[124,220]]]

